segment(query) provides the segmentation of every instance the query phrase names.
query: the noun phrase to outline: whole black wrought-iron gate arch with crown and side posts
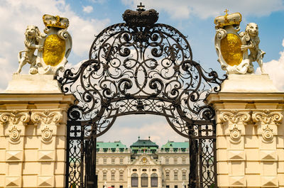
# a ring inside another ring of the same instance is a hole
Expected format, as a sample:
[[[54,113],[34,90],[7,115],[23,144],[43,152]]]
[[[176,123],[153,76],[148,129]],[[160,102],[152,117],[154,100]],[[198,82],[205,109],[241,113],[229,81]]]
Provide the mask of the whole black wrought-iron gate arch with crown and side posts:
[[[218,92],[224,79],[192,60],[185,36],[155,23],[155,10],[139,6],[137,11],[126,10],[123,18],[126,23],[96,36],[89,60],[77,71],[58,76],[62,92],[76,97],[67,111],[66,187],[96,186],[96,138],[116,117],[129,114],[164,116],[190,139],[189,186],[217,187],[215,114],[204,99]]]

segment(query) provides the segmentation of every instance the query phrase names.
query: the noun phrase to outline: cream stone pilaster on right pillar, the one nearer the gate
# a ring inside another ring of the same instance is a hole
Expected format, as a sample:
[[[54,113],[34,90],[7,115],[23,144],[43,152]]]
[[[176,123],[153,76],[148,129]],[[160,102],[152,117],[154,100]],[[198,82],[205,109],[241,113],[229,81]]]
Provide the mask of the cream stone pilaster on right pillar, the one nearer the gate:
[[[226,140],[226,165],[229,170],[229,183],[244,187],[246,185],[244,136],[246,135],[246,123],[251,119],[250,111],[222,110],[219,119],[222,122],[223,133],[218,135],[218,140],[220,140],[220,136]],[[218,149],[217,157],[224,153],[222,148]],[[224,162],[219,163],[221,169],[222,163]]]

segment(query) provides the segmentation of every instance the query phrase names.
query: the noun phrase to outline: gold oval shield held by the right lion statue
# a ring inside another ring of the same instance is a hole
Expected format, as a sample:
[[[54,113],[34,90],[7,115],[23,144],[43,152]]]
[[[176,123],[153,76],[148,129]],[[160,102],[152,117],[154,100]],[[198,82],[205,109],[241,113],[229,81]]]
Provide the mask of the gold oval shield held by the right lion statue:
[[[241,39],[239,36],[228,33],[226,37],[221,40],[221,52],[228,65],[239,65],[241,60],[243,60]]]

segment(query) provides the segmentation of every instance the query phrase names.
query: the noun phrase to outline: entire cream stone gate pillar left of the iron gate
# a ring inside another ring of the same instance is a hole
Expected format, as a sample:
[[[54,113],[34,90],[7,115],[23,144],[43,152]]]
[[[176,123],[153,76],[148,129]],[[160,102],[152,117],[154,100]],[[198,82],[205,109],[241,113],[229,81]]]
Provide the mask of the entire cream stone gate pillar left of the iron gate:
[[[73,101],[52,75],[13,75],[0,94],[0,187],[65,187]]]

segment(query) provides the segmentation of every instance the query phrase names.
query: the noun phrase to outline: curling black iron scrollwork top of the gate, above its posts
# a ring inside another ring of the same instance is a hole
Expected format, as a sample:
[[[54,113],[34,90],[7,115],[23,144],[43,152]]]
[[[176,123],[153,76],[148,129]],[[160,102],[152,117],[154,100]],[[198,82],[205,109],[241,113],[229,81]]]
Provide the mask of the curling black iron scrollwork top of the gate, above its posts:
[[[143,13],[141,26],[134,24],[135,12]],[[192,60],[190,44],[180,31],[151,23],[147,15],[158,20],[154,10],[126,10],[126,23],[99,33],[79,70],[66,70],[58,77],[62,92],[77,99],[68,111],[70,120],[92,125],[85,136],[106,133],[118,116],[156,114],[188,138],[190,124],[207,124],[214,118],[204,99],[219,92],[226,77],[204,71]]]

